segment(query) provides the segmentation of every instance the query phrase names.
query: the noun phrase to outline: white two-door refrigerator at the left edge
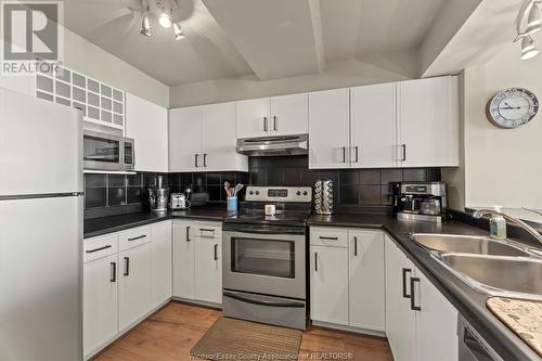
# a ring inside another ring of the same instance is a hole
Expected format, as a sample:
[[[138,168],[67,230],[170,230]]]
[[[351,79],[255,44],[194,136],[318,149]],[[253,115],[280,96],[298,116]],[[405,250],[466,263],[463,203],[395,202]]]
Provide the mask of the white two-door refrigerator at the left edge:
[[[81,114],[0,88],[0,360],[82,360]]]

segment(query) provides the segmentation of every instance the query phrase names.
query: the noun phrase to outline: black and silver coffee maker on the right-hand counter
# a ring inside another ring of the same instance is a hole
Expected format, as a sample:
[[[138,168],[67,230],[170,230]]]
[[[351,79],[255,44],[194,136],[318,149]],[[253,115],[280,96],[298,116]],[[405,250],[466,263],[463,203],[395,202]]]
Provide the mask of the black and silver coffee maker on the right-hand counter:
[[[446,218],[446,183],[402,182],[391,186],[398,219],[440,223]]]

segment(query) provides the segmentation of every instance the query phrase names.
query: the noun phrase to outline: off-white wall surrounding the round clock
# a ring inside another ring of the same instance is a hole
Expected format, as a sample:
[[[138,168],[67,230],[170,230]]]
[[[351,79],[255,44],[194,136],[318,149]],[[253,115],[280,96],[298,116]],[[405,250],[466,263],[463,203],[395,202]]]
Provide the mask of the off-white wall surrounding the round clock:
[[[455,193],[450,199],[453,208],[542,208],[542,109],[514,130],[492,126],[485,113],[488,100],[505,88],[527,88],[542,100],[541,70],[542,56],[521,61],[518,44],[506,47],[483,66],[464,70],[464,163],[455,171],[444,171],[450,193]]]

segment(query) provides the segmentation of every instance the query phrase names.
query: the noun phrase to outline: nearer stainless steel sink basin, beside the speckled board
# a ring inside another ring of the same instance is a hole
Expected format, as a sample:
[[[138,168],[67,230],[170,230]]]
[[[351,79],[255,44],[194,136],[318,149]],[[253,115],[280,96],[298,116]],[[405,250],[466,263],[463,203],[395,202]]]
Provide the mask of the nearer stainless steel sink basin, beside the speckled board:
[[[489,286],[507,293],[542,296],[542,260],[540,259],[465,254],[442,255],[441,259],[452,270],[470,279],[466,281],[475,288],[499,294],[499,292],[488,289],[487,286]]]

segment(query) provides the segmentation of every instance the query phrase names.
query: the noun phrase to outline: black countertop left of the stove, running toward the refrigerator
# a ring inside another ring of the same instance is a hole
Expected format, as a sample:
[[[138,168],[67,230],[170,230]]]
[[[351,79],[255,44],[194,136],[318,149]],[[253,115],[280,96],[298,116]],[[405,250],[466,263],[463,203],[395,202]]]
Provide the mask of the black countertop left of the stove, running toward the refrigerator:
[[[221,208],[191,208],[176,211],[141,211],[119,216],[86,219],[83,225],[83,237],[90,238],[113,232],[124,231],[130,228],[151,224],[173,218],[190,218],[208,221],[222,221],[227,217],[234,216],[235,211]]]

